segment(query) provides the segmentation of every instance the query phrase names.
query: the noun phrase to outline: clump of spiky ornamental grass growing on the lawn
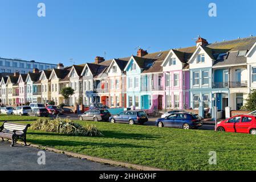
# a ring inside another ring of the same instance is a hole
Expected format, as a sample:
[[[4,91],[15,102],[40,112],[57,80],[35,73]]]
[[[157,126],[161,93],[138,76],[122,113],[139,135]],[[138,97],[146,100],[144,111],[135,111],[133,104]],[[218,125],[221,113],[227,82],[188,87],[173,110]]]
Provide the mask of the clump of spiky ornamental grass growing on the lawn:
[[[47,119],[39,118],[31,125],[32,130],[40,130],[51,133],[67,134],[82,137],[103,136],[100,130],[94,125],[82,126],[70,119]]]

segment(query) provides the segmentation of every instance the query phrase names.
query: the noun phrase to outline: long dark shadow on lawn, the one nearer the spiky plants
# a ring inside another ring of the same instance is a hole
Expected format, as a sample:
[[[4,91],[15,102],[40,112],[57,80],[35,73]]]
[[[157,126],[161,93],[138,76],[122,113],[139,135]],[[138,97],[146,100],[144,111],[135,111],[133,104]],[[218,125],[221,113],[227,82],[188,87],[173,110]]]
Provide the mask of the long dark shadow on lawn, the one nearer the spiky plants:
[[[63,136],[63,137],[76,137],[67,134],[58,134],[58,133],[32,133],[28,132],[30,135],[44,135],[44,136]],[[114,131],[103,131],[103,137],[100,138],[116,138],[116,139],[135,139],[135,140],[155,140],[159,137],[150,134],[134,134],[134,133],[121,133]],[[77,136],[79,137],[79,136]],[[94,137],[95,138],[95,137]]]

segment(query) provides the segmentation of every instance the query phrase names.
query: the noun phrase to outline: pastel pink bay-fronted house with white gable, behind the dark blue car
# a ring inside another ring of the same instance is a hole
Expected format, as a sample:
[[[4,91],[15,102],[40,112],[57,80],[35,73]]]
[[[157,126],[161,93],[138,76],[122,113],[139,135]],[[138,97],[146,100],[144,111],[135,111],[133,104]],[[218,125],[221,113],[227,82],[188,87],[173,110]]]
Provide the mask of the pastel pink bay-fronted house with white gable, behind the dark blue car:
[[[189,64],[196,47],[170,49],[162,63],[164,72],[165,108],[189,109]]]

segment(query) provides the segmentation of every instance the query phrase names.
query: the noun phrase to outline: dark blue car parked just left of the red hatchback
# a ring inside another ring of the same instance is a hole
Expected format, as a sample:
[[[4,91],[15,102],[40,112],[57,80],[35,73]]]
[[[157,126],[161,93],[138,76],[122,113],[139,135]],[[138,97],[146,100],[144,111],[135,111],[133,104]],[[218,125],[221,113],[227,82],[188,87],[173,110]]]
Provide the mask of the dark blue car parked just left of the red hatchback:
[[[158,127],[177,127],[185,130],[202,126],[202,118],[197,114],[174,113],[165,118],[159,118],[155,123]]]

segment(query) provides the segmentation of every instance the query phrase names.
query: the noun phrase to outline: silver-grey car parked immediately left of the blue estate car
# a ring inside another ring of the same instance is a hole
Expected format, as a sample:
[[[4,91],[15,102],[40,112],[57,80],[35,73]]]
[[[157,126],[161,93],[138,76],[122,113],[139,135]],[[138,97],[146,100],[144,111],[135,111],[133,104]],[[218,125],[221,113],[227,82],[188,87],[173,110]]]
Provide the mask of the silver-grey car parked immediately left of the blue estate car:
[[[88,121],[108,121],[111,114],[107,109],[102,110],[88,110],[83,114],[78,115],[79,120],[88,120]]]

